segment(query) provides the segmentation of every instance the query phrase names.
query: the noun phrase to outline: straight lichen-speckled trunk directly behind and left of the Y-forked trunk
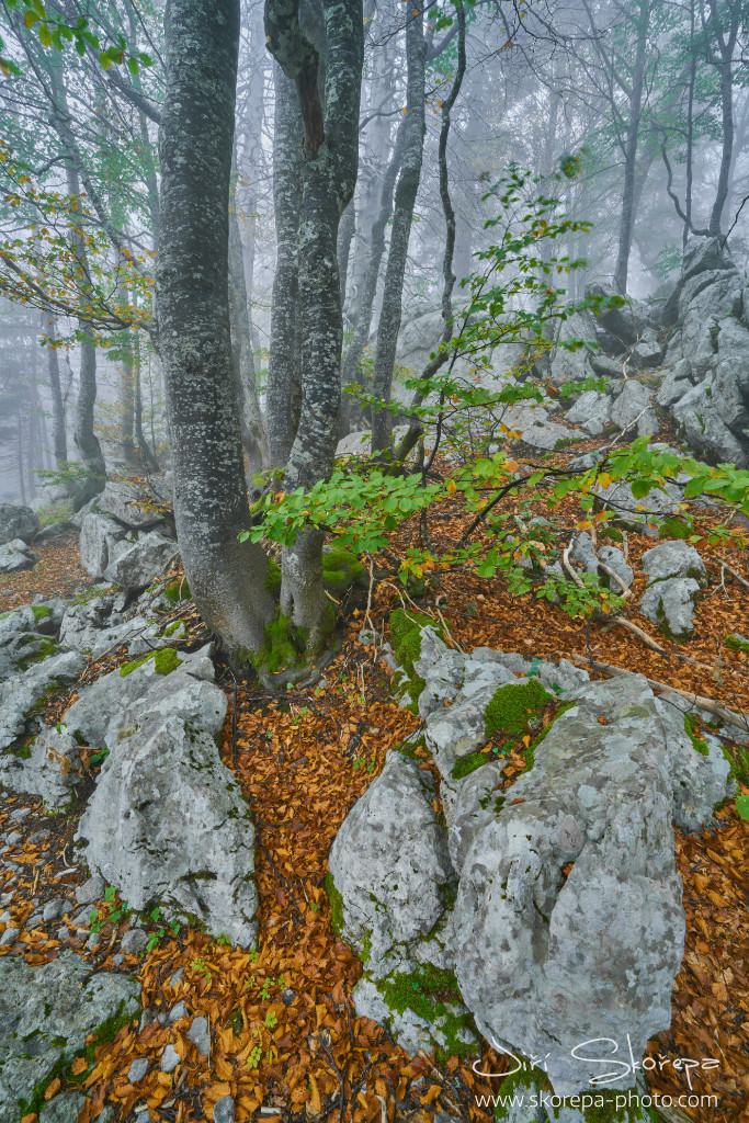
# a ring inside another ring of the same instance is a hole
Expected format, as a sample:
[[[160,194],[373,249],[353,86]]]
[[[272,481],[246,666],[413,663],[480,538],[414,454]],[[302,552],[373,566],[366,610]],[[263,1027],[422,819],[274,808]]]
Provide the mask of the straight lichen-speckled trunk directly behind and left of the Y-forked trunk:
[[[271,347],[265,400],[268,456],[274,467],[289,459],[296,432],[292,411],[294,383],[300,381],[296,346],[299,293],[299,220],[302,202],[302,120],[296,91],[276,62],[273,66],[275,113],[273,133],[273,202],[276,267],[271,304]]]

